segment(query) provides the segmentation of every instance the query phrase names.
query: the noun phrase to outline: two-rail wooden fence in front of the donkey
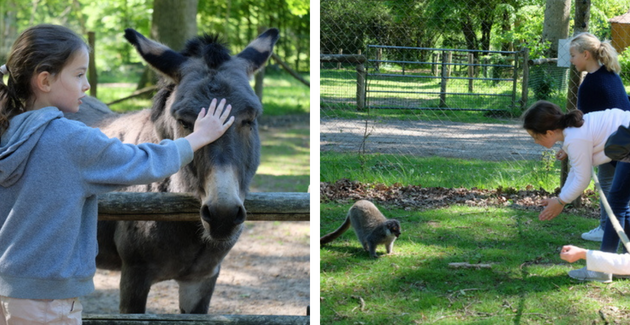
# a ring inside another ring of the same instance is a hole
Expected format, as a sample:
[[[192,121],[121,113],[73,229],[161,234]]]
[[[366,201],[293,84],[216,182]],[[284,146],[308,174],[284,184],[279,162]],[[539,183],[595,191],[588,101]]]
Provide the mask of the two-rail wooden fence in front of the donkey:
[[[245,199],[247,220],[309,221],[309,193],[250,193]],[[99,220],[199,220],[199,200],[188,193],[113,192],[99,196]],[[276,315],[83,315],[84,325],[258,325],[310,324],[306,316]]]

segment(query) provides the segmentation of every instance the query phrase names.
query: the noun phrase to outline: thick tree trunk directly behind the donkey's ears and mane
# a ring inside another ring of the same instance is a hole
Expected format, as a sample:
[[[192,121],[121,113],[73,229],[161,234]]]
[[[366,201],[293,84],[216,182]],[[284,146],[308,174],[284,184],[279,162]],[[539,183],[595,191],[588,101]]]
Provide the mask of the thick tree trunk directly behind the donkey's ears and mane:
[[[186,41],[197,35],[198,0],[154,0],[151,21],[151,38],[181,51]],[[146,68],[138,89],[156,84],[155,72]]]

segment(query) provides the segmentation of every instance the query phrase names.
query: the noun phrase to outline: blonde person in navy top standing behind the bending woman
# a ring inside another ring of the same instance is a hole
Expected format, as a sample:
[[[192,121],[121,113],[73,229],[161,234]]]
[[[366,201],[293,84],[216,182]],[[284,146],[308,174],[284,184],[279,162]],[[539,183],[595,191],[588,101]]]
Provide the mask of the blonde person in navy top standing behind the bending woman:
[[[569,46],[571,63],[575,69],[587,72],[578,89],[578,109],[584,114],[609,108],[630,110],[630,100],[619,77],[621,66],[617,51],[610,42],[601,42],[590,33],[580,33],[571,39]],[[566,158],[562,152],[559,152],[559,157]],[[614,174],[615,167],[611,163],[602,164],[597,169],[597,178],[606,195]],[[599,225],[583,233],[583,239],[602,240],[608,215],[601,205],[600,211]]]

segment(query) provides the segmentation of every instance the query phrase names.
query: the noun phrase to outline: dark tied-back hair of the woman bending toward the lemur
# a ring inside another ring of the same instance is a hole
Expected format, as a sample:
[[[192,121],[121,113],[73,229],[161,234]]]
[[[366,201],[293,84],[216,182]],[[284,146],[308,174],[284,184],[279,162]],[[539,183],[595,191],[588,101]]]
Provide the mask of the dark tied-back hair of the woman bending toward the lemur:
[[[523,128],[534,133],[545,134],[549,130],[564,130],[568,127],[579,128],[584,124],[584,114],[580,110],[572,110],[566,114],[558,105],[540,100],[530,106],[521,116]]]

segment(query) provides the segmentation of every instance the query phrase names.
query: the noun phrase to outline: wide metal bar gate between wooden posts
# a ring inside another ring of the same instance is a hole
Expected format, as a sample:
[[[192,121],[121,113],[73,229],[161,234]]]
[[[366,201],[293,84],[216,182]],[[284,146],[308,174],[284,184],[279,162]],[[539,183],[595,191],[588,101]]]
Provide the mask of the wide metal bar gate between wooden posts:
[[[520,109],[521,52],[385,45],[367,51],[369,109]]]

